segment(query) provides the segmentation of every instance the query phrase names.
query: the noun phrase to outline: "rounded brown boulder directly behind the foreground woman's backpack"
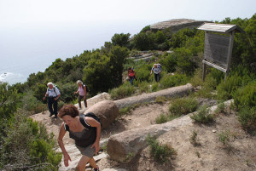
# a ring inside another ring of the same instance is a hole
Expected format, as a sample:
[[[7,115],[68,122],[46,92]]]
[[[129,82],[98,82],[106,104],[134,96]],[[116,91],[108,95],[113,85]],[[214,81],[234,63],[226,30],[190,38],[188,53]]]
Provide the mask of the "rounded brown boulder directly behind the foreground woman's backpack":
[[[100,117],[102,122],[102,128],[108,128],[110,123],[115,121],[115,118],[119,115],[119,108],[111,100],[104,100],[95,105],[90,106],[84,114],[93,112],[97,117]]]

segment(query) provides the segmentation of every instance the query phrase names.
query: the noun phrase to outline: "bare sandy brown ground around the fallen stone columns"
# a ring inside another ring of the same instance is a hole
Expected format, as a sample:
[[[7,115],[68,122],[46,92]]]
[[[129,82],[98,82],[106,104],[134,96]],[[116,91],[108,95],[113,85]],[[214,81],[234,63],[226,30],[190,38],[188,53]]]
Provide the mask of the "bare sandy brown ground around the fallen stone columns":
[[[99,98],[96,101],[108,99],[108,96]],[[90,100],[89,100],[90,101]],[[211,100],[201,100],[201,103],[209,103]],[[90,103],[92,105],[93,103]],[[211,102],[212,104],[212,102]],[[201,104],[202,105],[202,104]],[[102,131],[102,140],[113,134],[118,134],[135,128],[147,128],[155,124],[155,118],[161,113],[167,113],[170,101],[164,104],[149,103],[147,105],[139,105],[131,110],[128,114],[120,116],[110,128]],[[49,132],[58,133],[58,127],[61,123],[60,119],[49,119],[48,112],[34,115],[33,118],[40,122],[46,123]],[[172,123],[182,122],[182,120],[191,120],[189,116],[180,117],[172,120]],[[195,131],[197,133],[196,142],[198,145],[192,145],[190,137]],[[219,134],[230,131],[230,141],[219,140]],[[172,131],[162,134],[158,139],[162,144],[172,145],[177,152],[172,159],[168,159],[164,164],[155,162],[150,157],[149,147],[139,152],[128,164],[113,161],[111,157],[102,158],[97,164],[101,170],[114,168],[115,170],[255,170],[256,169],[256,138],[247,134],[241,129],[240,123],[237,121],[236,113],[226,107],[224,113],[218,113],[216,121],[212,124],[196,124],[192,121],[184,122]],[[73,141],[68,137],[64,139],[66,145],[73,145]],[[73,160],[75,158],[72,158]],[[61,164],[62,165],[62,164]],[[118,169],[119,168],[119,169]],[[61,170],[65,167],[61,167]],[[70,169],[70,168],[69,168]],[[67,170],[69,170],[67,169]],[[88,169],[90,170],[90,169]]]

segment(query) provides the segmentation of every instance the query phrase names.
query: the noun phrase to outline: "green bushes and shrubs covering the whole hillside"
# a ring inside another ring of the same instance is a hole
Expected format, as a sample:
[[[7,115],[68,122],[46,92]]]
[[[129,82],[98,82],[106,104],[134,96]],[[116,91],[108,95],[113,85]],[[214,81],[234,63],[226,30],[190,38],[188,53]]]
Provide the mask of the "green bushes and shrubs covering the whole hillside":
[[[157,123],[195,111],[198,105],[193,99],[195,97],[221,101],[234,99],[242,128],[255,132],[256,14],[250,19],[226,18],[216,22],[238,25],[246,31],[244,34],[236,34],[230,73],[225,82],[224,73],[210,67],[207,67],[205,82],[201,81],[204,31],[189,28],[177,32],[168,29],[152,31],[150,26],[145,26],[132,38],[130,33],[114,34],[111,42],[104,43],[102,48],[85,50],[65,61],[56,59],[44,72],[32,73],[26,83],[12,86],[0,83],[0,128],[3,130],[0,133],[0,168],[11,163],[17,169],[57,169],[61,158],[52,150],[55,145],[52,136],[46,134],[42,125],[27,119],[33,113],[47,109],[46,101],[42,97],[48,82],[55,83],[61,89],[59,107],[77,100],[73,92],[78,88],[78,79],[89,87],[88,98],[108,91],[113,100],[192,83],[196,87],[195,94],[191,94],[189,98],[173,100],[171,113],[161,114]],[[154,54],[154,57],[149,61],[138,62],[127,59],[129,54],[136,56],[144,50]],[[169,50],[172,53],[159,54],[159,50]],[[160,83],[155,83],[154,76],[150,76],[155,62],[162,65]],[[137,72],[134,86],[123,80],[129,66]],[[162,103],[164,100],[158,98],[156,101]],[[124,112],[129,110],[131,107],[124,109]],[[224,106],[219,105],[216,112],[223,111]],[[214,120],[206,107],[191,118],[199,123],[210,123]],[[15,136],[19,136],[26,145],[18,144]],[[148,142],[152,145],[152,155],[164,162],[171,153],[162,151],[168,151],[168,145],[162,146],[154,140]],[[16,156],[14,152],[17,152]],[[32,166],[36,168],[30,168]]]

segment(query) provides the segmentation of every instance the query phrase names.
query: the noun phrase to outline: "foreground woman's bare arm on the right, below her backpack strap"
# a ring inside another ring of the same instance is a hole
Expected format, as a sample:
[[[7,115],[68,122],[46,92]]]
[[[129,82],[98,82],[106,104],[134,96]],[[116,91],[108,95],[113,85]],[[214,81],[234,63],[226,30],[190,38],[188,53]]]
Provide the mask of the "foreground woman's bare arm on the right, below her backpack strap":
[[[96,141],[91,145],[91,148],[95,146],[96,153],[100,151],[100,136],[101,136],[101,123],[97,122],[94,118],[92,117],[86,117],[87,123],[90,124],[90,127],[96,127]]]

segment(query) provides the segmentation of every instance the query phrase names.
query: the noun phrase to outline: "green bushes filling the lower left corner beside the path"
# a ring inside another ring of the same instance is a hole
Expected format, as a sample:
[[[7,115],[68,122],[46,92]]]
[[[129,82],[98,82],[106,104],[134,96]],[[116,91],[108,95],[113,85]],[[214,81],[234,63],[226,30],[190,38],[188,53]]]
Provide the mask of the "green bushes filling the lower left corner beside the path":
[[[44,125],[28,118],[27,105],[20,105],[21,97],[15,88],[2,83],[0,91],[0,168],[57,170],[61,154],[53,149],[53,135],[47,134]]]

